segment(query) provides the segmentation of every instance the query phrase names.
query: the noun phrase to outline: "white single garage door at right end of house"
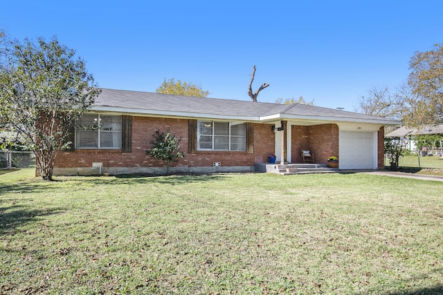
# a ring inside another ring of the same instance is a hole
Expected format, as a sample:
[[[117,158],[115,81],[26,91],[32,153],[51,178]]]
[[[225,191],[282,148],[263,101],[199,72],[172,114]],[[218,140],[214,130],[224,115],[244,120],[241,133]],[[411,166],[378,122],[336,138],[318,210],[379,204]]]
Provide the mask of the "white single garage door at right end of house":
[[[340,131],[340,169],[374,169],[374,133]]]

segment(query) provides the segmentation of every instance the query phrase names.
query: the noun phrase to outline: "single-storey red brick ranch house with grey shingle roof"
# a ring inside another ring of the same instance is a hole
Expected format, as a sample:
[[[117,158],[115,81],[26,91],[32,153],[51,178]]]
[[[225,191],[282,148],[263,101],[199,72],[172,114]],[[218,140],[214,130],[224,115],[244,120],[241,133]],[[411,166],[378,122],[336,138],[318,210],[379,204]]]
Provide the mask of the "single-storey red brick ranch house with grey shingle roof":
[[[91,113],[77,122],[72,149],[57,155],[54,174],[163,173],[165,164],[145,152],[156,130],[182,139],[186,158],[172,163],[176,172],[254,171],[270,154],[277,162],[283,155],[300,163],[302,149],[318,164],[336,155],[340,169],[378,169],[384,167],[384,126],[396,124],[306,104],[102,89]]]

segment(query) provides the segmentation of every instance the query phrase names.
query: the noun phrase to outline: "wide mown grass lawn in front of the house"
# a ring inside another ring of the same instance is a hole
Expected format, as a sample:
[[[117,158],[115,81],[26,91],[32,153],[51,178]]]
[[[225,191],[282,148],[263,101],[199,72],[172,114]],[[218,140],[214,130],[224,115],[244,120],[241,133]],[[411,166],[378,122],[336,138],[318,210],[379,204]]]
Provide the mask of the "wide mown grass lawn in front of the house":
[[[0,294],[443,294],[442,182],[0,175]]]

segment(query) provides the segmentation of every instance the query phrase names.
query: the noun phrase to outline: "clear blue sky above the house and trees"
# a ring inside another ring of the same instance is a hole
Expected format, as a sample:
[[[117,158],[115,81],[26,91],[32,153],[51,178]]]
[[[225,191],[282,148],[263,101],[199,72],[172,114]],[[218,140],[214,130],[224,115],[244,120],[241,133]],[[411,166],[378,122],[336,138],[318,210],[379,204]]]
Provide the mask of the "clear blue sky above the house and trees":
[[[10,37],[75,49],[102,88],[155,92],[180,79],[209,97],[300,95],[354,111],[374,86],[406,82],[415,51],[443,42],[443,1],[3,1]]]

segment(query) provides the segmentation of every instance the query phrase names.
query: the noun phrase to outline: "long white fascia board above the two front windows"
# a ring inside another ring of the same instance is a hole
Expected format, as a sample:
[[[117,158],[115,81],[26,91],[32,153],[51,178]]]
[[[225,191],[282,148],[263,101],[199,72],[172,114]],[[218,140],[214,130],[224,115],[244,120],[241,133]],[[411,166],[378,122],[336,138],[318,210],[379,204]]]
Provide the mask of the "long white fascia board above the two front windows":
[[[245,117],[245,116],[226,116],[226,115],[214,115],[206,113],[185,113],[185,112],[171,112],[171,111],[158,111],[158,110],[146,110],[141,108],[116,108],[113,106],[93,106],[91,111],[109,112],[109,113],[127,113],[142,116],[152,117],[181,117],[181,118],[201,118],[201,119],[219,119],[219,120],[235,120],[235,121],[259,121],[259,117]]]

